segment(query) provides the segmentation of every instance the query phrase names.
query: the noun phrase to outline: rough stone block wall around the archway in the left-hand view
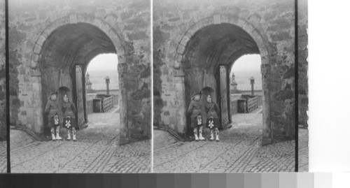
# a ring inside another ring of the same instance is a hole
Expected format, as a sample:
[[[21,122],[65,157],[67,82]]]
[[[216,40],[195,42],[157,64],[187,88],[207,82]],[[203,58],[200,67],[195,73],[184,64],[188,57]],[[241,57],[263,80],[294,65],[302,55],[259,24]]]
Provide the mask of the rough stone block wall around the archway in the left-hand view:
[[[11,122],[36,132],[43,126],[39,52],[64,24],[87,22],[111,37],[118,54],[123,108],[120,142],[151,138],[151,5],[141,0],[22,1],[9,5]]]

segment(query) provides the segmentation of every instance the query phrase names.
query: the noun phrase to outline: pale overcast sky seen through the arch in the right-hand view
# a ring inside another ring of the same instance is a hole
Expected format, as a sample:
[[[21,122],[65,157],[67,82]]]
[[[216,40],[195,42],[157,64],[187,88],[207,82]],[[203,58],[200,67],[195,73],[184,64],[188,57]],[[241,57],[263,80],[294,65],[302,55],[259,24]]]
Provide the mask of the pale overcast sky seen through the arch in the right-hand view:
[[[233,64],[231,74],[232,71],[260,71],[260,65],[260,55],[244,55]]]

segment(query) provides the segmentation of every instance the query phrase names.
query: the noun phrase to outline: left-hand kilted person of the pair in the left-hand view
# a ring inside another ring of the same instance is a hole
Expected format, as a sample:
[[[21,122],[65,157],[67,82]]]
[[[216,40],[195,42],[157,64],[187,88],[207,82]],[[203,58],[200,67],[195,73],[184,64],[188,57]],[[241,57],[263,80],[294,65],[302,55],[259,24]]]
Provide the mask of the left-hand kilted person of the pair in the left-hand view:
[[[48,127],[51,129],[52,140],[62,140],[59,136],[58,104],[56,102],[57,94],[51,94],[45,106],[45,114],[48,115]],[[56,136],[55,136],[56,129]]]

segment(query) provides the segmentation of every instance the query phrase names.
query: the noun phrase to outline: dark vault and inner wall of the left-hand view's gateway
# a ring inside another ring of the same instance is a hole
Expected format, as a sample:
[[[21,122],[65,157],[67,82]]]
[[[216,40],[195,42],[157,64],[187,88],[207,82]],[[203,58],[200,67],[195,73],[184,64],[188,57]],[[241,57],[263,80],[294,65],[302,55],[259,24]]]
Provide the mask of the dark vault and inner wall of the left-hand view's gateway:
[[[116,53],[116,48],[109,36],[92,24],[65,24],[52,31],[43,43],[38,59],[43,107],[47,103],[48,96],[62,86],[73,92],[71,95],[74,102],[79,100],[76,99],[76,95],[81,91],[85,100],[84,72],[90,60],[103,53]],[[80,85],[83,88],[80,90],[76,88],[76,65],[81,66]]]

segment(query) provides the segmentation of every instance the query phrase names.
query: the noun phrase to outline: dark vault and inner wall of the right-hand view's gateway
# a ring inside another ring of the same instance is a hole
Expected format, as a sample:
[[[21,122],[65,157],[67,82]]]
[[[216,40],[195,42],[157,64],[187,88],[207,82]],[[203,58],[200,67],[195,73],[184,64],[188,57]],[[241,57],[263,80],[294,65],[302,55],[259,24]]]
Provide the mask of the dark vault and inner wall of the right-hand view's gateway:
[[[186,44],[182,60],[186,107],[190,104],[191,96],[204,87],[215,90],[213,101],[220,106],[220,66],[226,66],[227,71],[230,71],[239,57],[248,54],[260,54],[258,45],[244,29],[234,24],[211,24],[193,34]],[[230,90],[229,85],[221,89],[226,89],[227,92]]]

